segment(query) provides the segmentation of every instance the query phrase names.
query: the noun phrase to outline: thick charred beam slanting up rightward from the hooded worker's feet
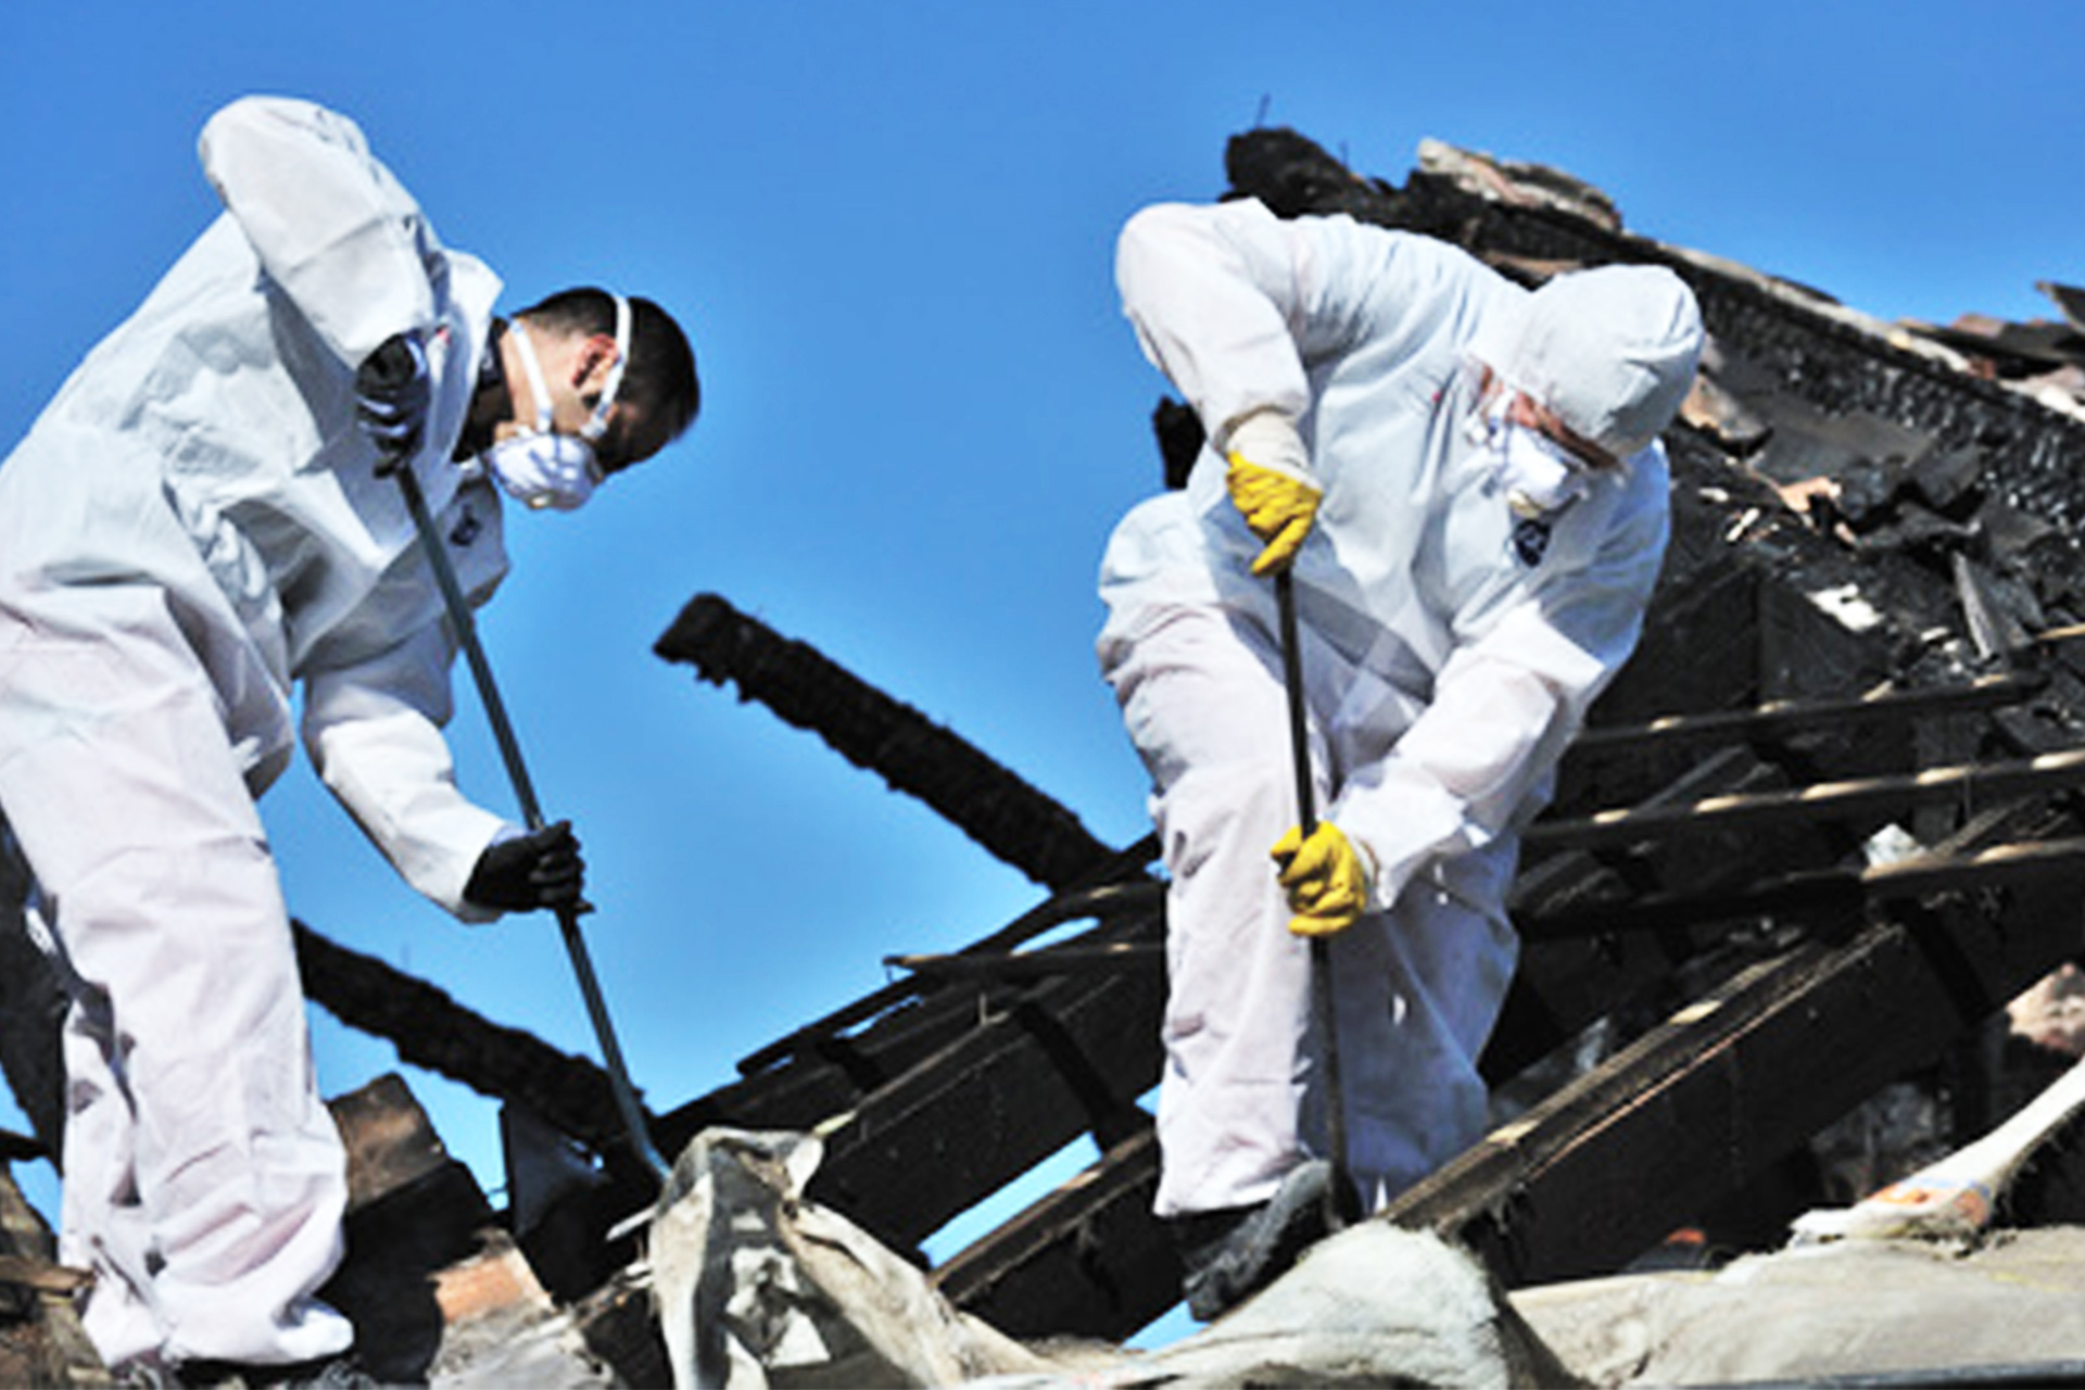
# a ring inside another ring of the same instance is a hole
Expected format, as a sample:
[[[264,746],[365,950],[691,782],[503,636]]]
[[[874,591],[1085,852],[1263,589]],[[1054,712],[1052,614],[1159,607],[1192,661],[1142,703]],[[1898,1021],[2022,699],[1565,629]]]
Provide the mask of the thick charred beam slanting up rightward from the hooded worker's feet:
[[[1618,1267],[2079,948],[2085,873],[1908,904],[1681,1011],[1401,1196],[1510,1284]]]

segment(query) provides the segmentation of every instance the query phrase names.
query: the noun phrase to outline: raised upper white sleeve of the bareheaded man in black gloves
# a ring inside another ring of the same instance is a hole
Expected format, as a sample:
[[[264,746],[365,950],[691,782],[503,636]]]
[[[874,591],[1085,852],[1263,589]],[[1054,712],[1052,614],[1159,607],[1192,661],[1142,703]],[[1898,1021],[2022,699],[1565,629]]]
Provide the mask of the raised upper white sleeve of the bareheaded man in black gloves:
[[[354,121],[248,96],[211,117],[198,152],[269,279],[340,361],[434,325],[440,242]]]

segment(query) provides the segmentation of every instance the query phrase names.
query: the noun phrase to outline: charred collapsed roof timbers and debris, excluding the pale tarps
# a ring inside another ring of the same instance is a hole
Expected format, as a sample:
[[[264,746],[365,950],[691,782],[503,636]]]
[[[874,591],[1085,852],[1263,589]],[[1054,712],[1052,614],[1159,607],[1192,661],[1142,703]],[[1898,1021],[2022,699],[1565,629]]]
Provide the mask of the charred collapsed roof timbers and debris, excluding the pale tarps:
[[[2045,286],[2047,323],[1883,323],[1635,233],[1568,175],[1434,142],[1393,185],[1255,129],[1226,173],[1282,217],[1426,231],[1524,283],[1668,265],[1712,340],[1666,436],[1674,531],[1641,648],[1526,836],[1524,959],[1485,1054],[1501,1123],[1387,1219],[1474,1250],[1505,1286],[1608,1273],[1674,1230],[1772,1244],[1804,1207],[1860,1196],[1833,1190],[1818,1136],[1885,1086],[1922,1079],[1949,1142],[2008,1113],[2056,1063],[1997,1048],[2006,1004],[2081,948],[2085,292]],[[1153,419],[1178,477],[1199,427],[1172,402]],[[1159,1075],[1155,842],[1099,842],[719,596],[688,602],[657,652],[817,734],[1042,890],[961,952],[894,959],[886,988],[655,1115],[657,1146],[719,1125],[817,1132],[809,1196],[915,1250],[1090,1136],[1090,1171],[934,1286],[1015,1338],[1122,1340],[1172,1307],[1138,1104]],[[336,1102],[357,1163],[336,1294],[363,1344],[396,1375],[469,1384],[473,1365],[513,1371],[488,1346],[519,1355],[515,1319],[555,1323],[534,1344],[567,1359],[565,1384],[582,1363],[598,1377],[584,1384],[663,1384],[630,1221],[655,1182],[617,1140],[607,1077],[309,927],[298,950],[313,1000],[507,1115],[511,1205],[492,1211],[402,1082]],[[54,996],[31,977],[0,957],[0,1059],[50,1142]],[[31,1152],[23,1138],[0,1157]],[[2010,1219],[2077,1215],[2070,1184],[2043,1165]],[[0,1242],[19,1357],[0,1380],[96,1384],[67,1321],[75,1277],[8,1182]]]

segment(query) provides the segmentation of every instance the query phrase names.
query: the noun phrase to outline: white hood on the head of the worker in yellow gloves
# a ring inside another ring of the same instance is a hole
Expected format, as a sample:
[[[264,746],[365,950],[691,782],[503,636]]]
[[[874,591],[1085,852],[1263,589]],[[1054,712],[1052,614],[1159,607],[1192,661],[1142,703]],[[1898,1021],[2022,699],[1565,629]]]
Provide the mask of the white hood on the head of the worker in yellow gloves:
[[[1476,331],[1470,350],[1616,458],[1672,423],[1701,356],[1701,311],[1678,275],[1603,265],[1557,275]]]

